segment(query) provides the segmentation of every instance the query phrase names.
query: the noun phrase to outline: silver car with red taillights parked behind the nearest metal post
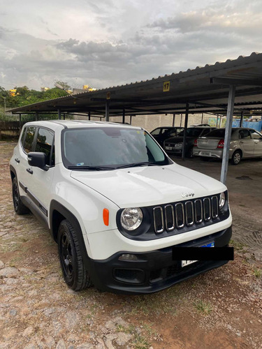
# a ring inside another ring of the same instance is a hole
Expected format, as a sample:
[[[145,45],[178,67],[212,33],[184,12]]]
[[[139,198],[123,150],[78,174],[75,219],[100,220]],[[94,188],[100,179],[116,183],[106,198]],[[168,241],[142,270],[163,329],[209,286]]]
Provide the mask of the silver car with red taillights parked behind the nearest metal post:
[[[217,128],[194,143],[194,156],[222,158],[224,151],[225,128]],[[262,134],[253,128],[232,128],[229,158],[238,165],[241,158],[262,156]]]

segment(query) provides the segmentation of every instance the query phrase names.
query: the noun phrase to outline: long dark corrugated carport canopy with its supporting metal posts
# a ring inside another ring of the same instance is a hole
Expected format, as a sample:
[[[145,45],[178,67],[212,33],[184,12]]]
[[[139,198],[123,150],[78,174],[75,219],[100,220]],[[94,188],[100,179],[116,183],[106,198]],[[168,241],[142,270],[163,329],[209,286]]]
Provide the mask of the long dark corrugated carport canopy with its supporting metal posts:
[[[243,118],[244,114],[262,113],[262,54],[254,52],[249,57],[240,56],[152,80],[83,92],[10,111],[35,113],[36,118],[48,112],[58,112],[59,119],[62,113],[87,113],[88,119],[100,116],[106,121],[110,116],[121,116],[123,122],[125,115],[184,113],[185,128],[189,114],[226,115],[221,168],[221,181],[225,183],[233,114]]]

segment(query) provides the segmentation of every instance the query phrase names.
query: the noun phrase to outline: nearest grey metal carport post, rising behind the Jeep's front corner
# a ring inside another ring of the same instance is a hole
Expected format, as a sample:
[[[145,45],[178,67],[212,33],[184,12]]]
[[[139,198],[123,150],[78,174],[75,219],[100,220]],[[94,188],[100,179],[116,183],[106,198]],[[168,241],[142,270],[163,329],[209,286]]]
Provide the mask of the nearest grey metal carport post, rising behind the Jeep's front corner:
[[[221,177],[220,177],[220,181],[224,184],[226,184],[226,175],[228,172],[228,155],[229,155],[229,147],[230,147],[230,141],[231,141],[234,103],[235,103],[235,86],[230,85],[229,94],[228,94],[228,109],[226,112],[226,131],[225,131],[225,141],[224,141],[224,152],[223,152]]]

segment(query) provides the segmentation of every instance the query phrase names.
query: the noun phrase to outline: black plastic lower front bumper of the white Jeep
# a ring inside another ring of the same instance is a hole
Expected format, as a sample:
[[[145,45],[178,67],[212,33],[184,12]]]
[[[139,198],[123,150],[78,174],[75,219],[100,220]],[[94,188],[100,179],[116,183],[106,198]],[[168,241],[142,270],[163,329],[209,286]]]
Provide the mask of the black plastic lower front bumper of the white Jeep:
[[[229,227],[175,247],[203,246],[210,242],[214,242],[215,247],[223,247],[228,245],[231,235],[232,230]],[[120,251],[106,260],[89,259],[87,267],[96,288],[120,294],[147,294],[163,290],[228,262],[228,260],[198,261],[187,267],[181,267],[181,261],[173,258],[173,246],[145,253],[134,252],[138,260],[119,260],[119,256],[123,253],[131,252]]]

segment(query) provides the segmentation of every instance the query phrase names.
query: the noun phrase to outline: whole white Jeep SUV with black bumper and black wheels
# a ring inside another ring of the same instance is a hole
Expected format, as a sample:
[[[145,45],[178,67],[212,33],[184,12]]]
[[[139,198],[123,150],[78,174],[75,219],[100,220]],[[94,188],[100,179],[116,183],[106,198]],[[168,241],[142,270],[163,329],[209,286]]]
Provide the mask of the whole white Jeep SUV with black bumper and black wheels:
[[[143,128],[29,122],[10,175],[15,212],[48,227],[73,290],[150,293],[228,262],[226,186],[173,163]],[[203,246],[212,260],[190,258]]]

